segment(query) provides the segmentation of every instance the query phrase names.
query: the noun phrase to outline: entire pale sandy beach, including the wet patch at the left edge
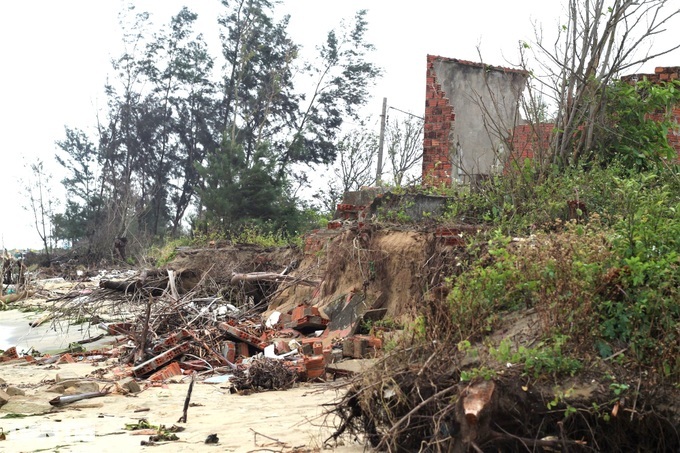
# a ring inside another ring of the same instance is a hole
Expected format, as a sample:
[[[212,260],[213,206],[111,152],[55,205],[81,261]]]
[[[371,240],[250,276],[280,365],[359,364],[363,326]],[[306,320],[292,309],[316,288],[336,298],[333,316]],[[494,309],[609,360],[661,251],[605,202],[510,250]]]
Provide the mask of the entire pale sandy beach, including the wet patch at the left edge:
[[[58,291],[55,294],[65,294],[73,284],[55,279],[45,287]],[[46,308],[41,298],[22,301],[21,306]],[[0,350],[15,347],[20,356],[33,351],[58,356],[74,342],[105,333],[89,322],[69,325],[65,320],[46,320],[37,327],[30,325],[44,315],[41,311],[0,311]],[[84,346],[87,351],[102,350],[115,340],[105,335]],[[90,361],[87,354],[72,356],[76,363],[38,364],[24,357],[0,362],[0,397],[8,400],[5,404],[0,401],[0,432],[5,434],[0,451],[317,451],[324,449],[324,441],[334,431],[329,426],[332,420],[324,417],[323,405],[338,396],[341,390],[337,382],[302,382],[289,390],[241,395],[232,393],[229,384],[208,384],[199,378],[193,387],[187,423],[178,423],[190,376],[154,383],[137,380],[141,391],[131,393],[121,388],[129,369],[124,370],[117,358],[95,355],[91,358],[97,361]],[[70,376],[77,386],[66,391],[55,389],[60,375],[62,379]],[[97,384],[94,388],[108,389],[110,393],[57,407],[49,403],[69,393],[92,391],[82,386],[92,387],[93,383]],[[142,442],[149,440],[149,432],[139,434],[125,429],[126,424],[142,419],[154,426],[178,425],[184,430],[176,433],[179,440],[144,446]],[[211,434],[219,438],[217,444],[205,443]],[[325,448],[341,452],[364,450],[358,443],[343,442]]]

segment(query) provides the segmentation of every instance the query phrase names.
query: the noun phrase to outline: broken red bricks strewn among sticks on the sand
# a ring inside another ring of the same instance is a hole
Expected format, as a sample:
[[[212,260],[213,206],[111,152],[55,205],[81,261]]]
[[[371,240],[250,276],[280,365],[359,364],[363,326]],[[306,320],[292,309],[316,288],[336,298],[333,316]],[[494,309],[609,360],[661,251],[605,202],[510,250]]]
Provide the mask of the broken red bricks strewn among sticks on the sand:
[[[357,317],[355,324],[360,322]],[[325,379],[326,368],[343,358],[369,358],[382,348],[382,340],[371,335],[352,335],[356,328],[334,332],[330,321],[317,307],[299,305],[281,313],[278,322],[267,326],[256,317],[231,319],[203,329],[177,329],[147,343],[147,357],[139,363],[118,366],[118,379],[135,378],[150,384],[162,383],[173,376],[209,373],[224,368],[245,370],[252,360],[262,357],[281,360],[297,374],[298,380]],[[124,358],[134,353],[139,341],[131,323],[102,324],[107,333],[118,335],[118,346],[108,350],[65,352],[54,356],[19,357],[16,348],[0,355],[0,362],[21,360],[38,363],[74,363]],[[131,351],[131,348],[132,351]],[[265,354],[265,349],[269,352]]]

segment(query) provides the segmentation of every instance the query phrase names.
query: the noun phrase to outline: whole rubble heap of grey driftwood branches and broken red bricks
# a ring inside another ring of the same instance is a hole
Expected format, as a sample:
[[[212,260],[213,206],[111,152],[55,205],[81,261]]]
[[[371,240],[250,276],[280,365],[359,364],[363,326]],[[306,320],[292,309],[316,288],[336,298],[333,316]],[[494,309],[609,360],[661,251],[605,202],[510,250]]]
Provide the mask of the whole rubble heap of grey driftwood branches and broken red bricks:
[[[22,359],[45,364],[116,358],[115,375],[127,382],[192,375],[208,383],[231,382],[240,391],[323,380],[328,371],[340,373],[332,364],[373,357],[382,348],[381,338],[357,334],[365,318],[375,320],[385,313],[362,312],[360,295],[338,300],[323,312],[299,305],[263,316],[266,305],[239,309],[222,297],[200,297],[205,294],[196,287],[181,288],[181,276],[171,270],[147,271],[125,280],[101,279],[99,288],[76,287],[49,299],[58,316],[75,316],[75,310],[79,317],[85,313],[90,323],[97,321],[100,329],[116,337],[115,344],[106,350],[69,348],[62,354]],[[108,312],[115,316],[108,317],[118,320],[106,320],[107,307],[116,307],[115,313]],[[11,348],[0,361],[18,358]]]

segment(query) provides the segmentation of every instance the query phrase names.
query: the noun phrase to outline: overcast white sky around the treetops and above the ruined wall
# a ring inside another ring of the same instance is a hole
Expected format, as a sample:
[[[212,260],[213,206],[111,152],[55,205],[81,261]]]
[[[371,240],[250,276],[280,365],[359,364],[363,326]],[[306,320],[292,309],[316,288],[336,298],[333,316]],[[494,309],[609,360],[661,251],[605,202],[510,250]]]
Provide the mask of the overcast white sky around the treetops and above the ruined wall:
[[[118,13],[127,0],[19,0],[0,6],[0,247],[39,247],[20,178],[26,164],[43,159],[54,166],[55,141],[64,126],[88,129],[105,104],[102,87],[110,61],[120,51]],[[183,5],[199,15],[198,29],[217,47],[219,0],[133,0],[154,23],[167,23]],[[561,0],[284,0],[289,32],[307,52],[321,43],[342,18],[368,9],[368,40],[376,46],[373,60],[384,76],[373,89],[367,112],[377,117],[382,98],[388,105],[422,115],[425,108],[426,55],[508,66],[516,60],[519,40],[532,41],[532,21],[555,29]],[[677,32],[671,31],[669,35]],[[668,36],[668,37],[670,37]],[[651,62],[680,65],[675,52]],[[396,113],[393,113],[396,114]],[[54,197],[59,200],[58,189]],[[61,200],[63,202],[63,200]]]

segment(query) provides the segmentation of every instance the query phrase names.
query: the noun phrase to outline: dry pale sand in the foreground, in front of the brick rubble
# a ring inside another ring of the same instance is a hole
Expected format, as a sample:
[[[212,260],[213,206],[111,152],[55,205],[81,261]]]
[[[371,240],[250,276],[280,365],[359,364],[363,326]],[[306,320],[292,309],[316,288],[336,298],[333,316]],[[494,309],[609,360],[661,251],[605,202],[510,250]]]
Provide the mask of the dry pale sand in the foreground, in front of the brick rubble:
[[[324,426],[323,403],[332,401],[337,391],[330,383],[299,384],[287,391],[251,395],[231,394],[222,384],[196,381],[187,413],[187,423],[178,423],[189,386],[188,377],[144,388],[135,395],[114,392],[52,407],[48,402],[59,396],[47,390],[57,374],[74,373],[83,380],[94,380],[100,388],[110,385],[106,378],[92,379],[97,370],[111,369],[114,362],[88,364],[35,365],[22,361],[0,364],[3,387],[17,387],[25,396],[12,396],[0,408],[0,428],[6,440],[0,451],[8,452],[120,452],[120,451],[309,451],[321,449],[332,429]],[[115,367],[114,367],[115,369]],[[19,414],[19,415],[17,415]],[[25,417],[21,417],[26,415]],[[12,417],[12,418],[8,418]],[[14,418],[21,417],[21,418]],[[146,419],[152,425],[178,425],[178,441],[141,445],[149,435],[136,435],[126,424]],[[217,434],[219,443],[205,440]],[[335,451],[358,452],[359,444],[337,445]]]

